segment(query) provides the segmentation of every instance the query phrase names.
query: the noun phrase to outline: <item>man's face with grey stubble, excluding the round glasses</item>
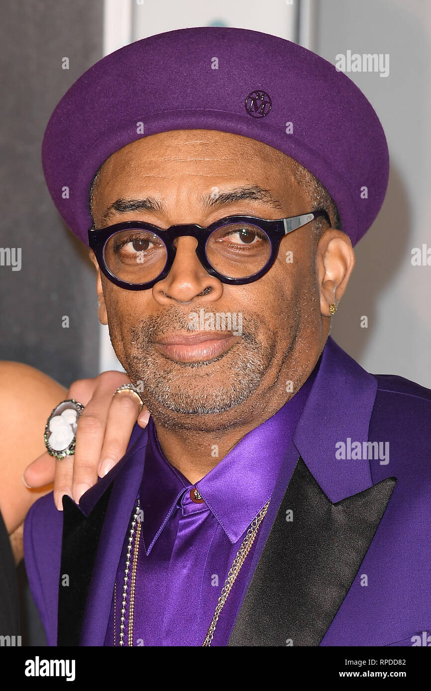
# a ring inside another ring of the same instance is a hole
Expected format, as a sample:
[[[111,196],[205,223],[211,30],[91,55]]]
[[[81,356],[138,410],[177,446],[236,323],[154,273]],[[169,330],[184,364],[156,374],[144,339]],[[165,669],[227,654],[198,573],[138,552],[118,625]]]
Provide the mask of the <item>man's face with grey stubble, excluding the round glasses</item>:
[[[206,227],[232,215],[303,214],[312,210],[310,200],[290,165],[270,146],[230,133],[151,135],[104,163],[93,198],[95,226],[142,220],[162,229],[183,223]],[[117,200],[140,205],[125,211]],[[259,410],[270,410],[268,401],[280,401],[281,407],[291,396],[289,382],[294,391],[302,384],[322,349],[314,231],[309,223],[283,238],[273,267],[248,285],[210,276],[191,237],[176,240],[174,265],[152,289],[125,290],[100,276],[100,319],[109,323],[113,348],[129,377],[143,383],[156,422],[206,430],[241,425]],[[202,330],[201,314],[211,328],[207,315],[215,319],[222,312],[237,320],[230,331]],[[191,321],[197,333],[190,330]]]

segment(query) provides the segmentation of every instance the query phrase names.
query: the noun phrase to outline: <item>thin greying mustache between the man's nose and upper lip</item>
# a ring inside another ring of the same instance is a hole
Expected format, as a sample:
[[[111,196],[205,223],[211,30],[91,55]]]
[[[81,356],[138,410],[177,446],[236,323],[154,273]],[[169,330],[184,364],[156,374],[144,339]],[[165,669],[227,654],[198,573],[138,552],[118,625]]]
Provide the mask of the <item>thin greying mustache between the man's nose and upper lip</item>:
[[[132,343],[134,343],[134,345],[139,345],[140,348],[149,348],[158,338],[166,336],[167,334],[178,332],[183,334],[195,334],[196,330],[191,331],[189,328],[190,313],[199,314],[201,309],[204,310],[205,314],[212,311],[205,310],[205,307],[208,309],[208,305],[190,305],[187,306],[186,312],[183,308],[172,305],[172,307],[167,307],[167,309],[159,314],[144,316],[131,329]],[[212,313],[217,314],[217,312],[221,312],[221,310],[216,310],[214,307],[214,312]],[[224,312],[224,314],[228,314],[228,312]],[[233,312],[230,312],[230,314],[233,314]],[[259,321],[251,314],[242,311],[241,314],[241,337],[248,343],[257,343],[255,334],[259,332]]]

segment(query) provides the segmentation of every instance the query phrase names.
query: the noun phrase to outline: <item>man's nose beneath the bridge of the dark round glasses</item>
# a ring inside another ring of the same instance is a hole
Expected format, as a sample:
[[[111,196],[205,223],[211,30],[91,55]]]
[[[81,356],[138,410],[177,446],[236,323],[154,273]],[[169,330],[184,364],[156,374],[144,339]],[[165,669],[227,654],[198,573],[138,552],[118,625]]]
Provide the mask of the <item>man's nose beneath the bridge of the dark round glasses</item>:
[[[218,300],[223,294],[223,283],[201,265],[196,254],[196,238],[181,236],[174,244],[174,263],[166,278],[154,285],[154,299],[164,305],[172,301],[187,304],[195,298],[206,302]]]

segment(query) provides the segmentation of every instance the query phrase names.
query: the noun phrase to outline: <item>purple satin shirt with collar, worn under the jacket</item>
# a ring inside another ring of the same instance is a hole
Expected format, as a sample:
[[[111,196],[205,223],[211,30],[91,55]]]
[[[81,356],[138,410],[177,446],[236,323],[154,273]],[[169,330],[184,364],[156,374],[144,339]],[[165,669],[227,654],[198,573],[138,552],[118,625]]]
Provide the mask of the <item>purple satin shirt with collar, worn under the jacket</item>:
[[[190,492],[194,486],[163,455],[150,418],[138,495],[143,520],[136,570],[133,645],[202,645],[241,542],[255,516],[270,499],[283,455],[319,365],[320,360],[309,379],[283,408],[243,437],[196,483],[204,500],[201,503],[192,500]],[[112,600],[104,645],[119,645],[128,538],[129,533],[116,576],[115,643]],[[228,643],[255,545],[256,541],[226,600],[211,645]],[[130,575],[131,565],[129,591]]]

